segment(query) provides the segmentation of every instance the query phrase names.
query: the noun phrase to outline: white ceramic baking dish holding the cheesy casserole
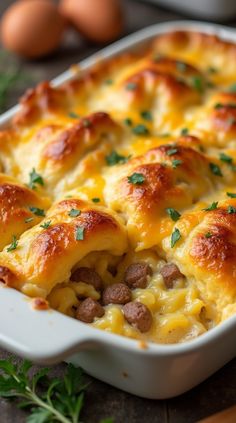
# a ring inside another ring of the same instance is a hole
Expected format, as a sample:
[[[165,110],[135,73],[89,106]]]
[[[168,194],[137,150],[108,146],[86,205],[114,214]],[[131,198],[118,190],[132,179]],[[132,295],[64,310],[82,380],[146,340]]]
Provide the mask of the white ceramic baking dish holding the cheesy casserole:
[[[176,29],[217,34],[236,41],[236,32],[219,25],[190,21],[157,24],[118,41],[83,61],[89,68],[141,45],[158,34]],[[70,71],[56,78],[60,85]],[[0,118],[6,126],[19,106]],[[89,374],[124,391],[146,398],[179,395],[202,382],[236,355],[236,316],[200,337],[177,345],[145,345],[94,329],[56,311],[35,311],[21,293],[0,287],[0,345],[38,363],[61,360],[82,366]]]

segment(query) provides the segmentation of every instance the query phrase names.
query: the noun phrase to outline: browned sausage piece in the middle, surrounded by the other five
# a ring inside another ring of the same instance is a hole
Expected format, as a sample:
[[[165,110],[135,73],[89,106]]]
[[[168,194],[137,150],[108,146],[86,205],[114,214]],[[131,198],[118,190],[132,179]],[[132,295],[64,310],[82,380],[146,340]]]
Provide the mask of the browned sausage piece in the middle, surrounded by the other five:
[[[108,286],[102,295],[103,304],[126,304],[131,300],[131,292],[124,283],[114,283]]]

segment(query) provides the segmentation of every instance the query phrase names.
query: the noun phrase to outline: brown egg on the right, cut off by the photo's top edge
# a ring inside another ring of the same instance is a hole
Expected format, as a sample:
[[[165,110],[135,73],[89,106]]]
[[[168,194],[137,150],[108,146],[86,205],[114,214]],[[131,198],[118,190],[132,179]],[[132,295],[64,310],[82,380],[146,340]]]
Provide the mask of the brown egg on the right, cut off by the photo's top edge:
[[[122,31],[119,0],[61,0],[59,7],[76,30],[96,43],[112,41]]]

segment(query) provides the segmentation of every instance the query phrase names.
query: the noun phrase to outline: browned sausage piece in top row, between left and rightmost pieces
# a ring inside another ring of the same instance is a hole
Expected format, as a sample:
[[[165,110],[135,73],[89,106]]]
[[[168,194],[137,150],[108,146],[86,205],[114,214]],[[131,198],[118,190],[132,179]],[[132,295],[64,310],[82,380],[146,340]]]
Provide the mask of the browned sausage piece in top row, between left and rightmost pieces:
[[[148,275],[152,275],[149,264],[133,263],[126,269],[125,283],[130,288],[146,288]]]

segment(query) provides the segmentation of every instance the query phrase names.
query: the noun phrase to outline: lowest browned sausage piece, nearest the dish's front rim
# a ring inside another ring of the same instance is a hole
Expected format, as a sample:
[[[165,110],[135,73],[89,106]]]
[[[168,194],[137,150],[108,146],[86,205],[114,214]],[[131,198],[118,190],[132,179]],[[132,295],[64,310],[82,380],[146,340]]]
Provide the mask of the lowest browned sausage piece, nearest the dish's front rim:
[[[123,307],[124,316],[128,323],[135,326],[140,332],[148,332],[152,325],[150,310],[142,303],[130,302]]]

